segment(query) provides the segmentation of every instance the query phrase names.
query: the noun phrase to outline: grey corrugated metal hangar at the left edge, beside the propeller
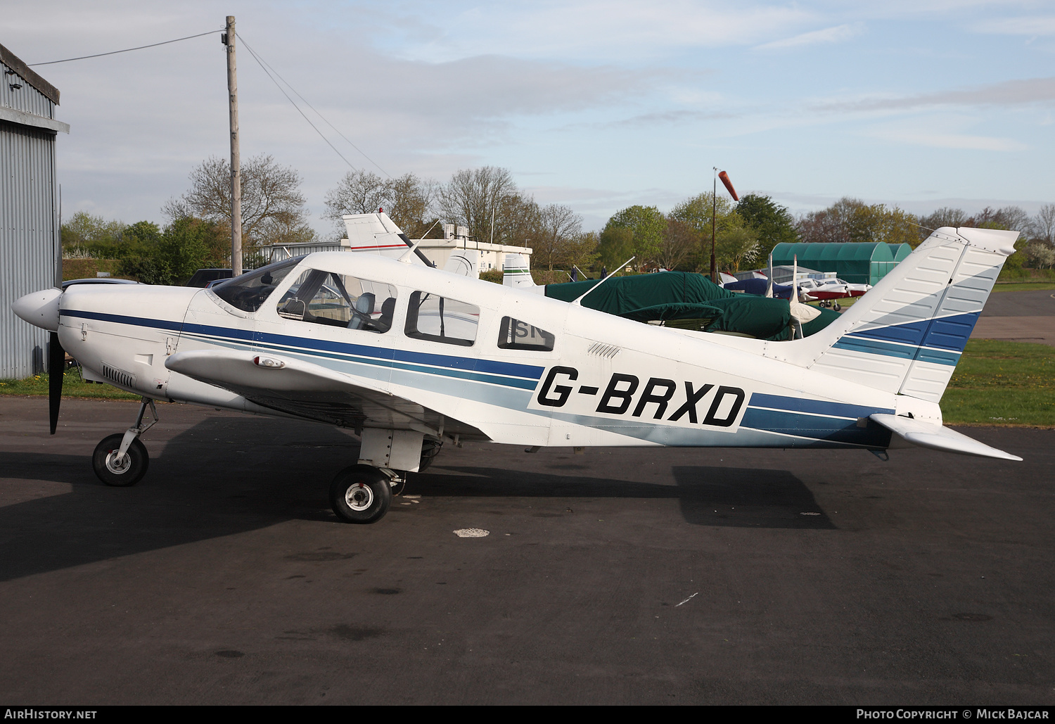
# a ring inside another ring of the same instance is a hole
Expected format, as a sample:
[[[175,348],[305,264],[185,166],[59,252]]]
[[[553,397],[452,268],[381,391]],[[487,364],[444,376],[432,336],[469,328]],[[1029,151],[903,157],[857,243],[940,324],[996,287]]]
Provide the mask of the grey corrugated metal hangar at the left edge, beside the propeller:
[[[0,378],[42,371],[47,332],[15,317],[11,303],[62,283],[55,182],[59,92],[0,45]]]

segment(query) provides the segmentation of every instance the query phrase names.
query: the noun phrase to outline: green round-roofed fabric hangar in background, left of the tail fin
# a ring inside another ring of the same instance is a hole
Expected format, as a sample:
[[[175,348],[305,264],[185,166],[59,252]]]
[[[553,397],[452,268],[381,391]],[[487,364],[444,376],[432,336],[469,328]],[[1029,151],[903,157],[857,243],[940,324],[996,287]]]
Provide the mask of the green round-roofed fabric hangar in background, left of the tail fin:
[[[773,247],[773,266],[790,265],[817,271],[835,271],[850,284],[871,284],[886,277],[913,249],[908,244],[886,242],[778,244]]]

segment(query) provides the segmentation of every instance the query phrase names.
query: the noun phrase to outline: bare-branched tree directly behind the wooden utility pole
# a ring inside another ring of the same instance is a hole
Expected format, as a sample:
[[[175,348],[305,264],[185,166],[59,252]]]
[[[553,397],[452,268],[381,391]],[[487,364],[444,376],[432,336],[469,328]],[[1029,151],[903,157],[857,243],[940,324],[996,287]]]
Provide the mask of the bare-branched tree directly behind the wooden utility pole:
[[[231,165],[210,156],[190,173],[191,188],[169,201],[162,212],[172,221],[194,216],[230,228]],[[260,154],[242,165],[242,239],[247,246],[274,241],[276,229],[296,229],[300,237],[314,235],[307,225],[306,201],[300,191],[301,176],[280,166],[270,155]]]

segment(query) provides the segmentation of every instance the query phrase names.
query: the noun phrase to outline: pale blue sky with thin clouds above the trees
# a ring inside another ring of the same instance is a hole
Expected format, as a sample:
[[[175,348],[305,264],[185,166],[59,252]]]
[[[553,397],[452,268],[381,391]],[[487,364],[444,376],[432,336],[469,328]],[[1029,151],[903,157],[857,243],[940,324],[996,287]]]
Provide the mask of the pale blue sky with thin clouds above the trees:
[[[246,44],[373,161],[312,116],[357,168],[443,182],[504,167],[588,229],[632,204],[667,211],[709,190],[714,166],[795,213],[843,195],[916,213],[1055,202],[1050,0],[3,5],[0,43],[27,63],[218,31],[233,14],[242,156],[296,169],[326,233],[325,194],[348,166]],[[190,170],[230,152],[218,33],[34,70],[72,127],[65,217],[164,224]]]

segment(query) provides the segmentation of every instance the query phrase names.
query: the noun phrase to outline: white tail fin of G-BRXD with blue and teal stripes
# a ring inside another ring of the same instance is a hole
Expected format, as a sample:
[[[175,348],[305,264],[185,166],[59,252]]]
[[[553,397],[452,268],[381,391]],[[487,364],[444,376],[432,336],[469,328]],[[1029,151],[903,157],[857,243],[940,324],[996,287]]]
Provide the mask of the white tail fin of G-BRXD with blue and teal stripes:
[[[787,361],[938,402],[1017,231],[942,227]]]

